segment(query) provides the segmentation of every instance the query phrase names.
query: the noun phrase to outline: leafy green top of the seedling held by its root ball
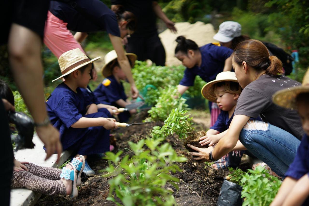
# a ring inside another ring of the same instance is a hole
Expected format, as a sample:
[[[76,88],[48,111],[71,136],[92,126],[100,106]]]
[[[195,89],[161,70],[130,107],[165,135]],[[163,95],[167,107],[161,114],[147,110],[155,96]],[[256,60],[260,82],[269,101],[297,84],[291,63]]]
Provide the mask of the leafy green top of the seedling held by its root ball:
[[[173,134],[174,132],[179,136],[179,138],[187,138],[188,134],[193,132],[193,117],[189,117],[190,114],[187,114],[188,111],[180,110],[175,108],[171,110],[171,113],[168,115],[167,119],[164,121],[162,127],[163,132],[166,135]]]

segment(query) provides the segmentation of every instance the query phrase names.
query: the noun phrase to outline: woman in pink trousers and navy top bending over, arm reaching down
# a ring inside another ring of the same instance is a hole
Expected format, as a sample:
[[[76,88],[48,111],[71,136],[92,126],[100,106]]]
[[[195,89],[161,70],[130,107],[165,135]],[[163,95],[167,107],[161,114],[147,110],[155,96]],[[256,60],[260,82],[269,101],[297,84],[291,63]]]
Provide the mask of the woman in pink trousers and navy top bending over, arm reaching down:
[[[132,97],[137,98],[138,89],[121,42],[124,37],[132,34],[135,28],[134,14],[125,11],[122,6],[116,6],[112,11],[100,0],[50,1],[44,43],[57,58],[64,52],[75,48],[85,53],[81,42],[87,37],[87,33],[106,31],[116,50],[119,65],[131,84]],[[70,30],[77,33],[73,36]]]

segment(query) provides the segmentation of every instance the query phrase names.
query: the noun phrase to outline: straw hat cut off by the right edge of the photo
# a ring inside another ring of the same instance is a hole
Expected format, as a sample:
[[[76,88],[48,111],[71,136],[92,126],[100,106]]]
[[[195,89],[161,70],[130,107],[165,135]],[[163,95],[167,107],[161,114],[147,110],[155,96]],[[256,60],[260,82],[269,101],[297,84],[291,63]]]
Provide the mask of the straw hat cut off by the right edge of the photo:
[[[296,97],[300,93],[309,93],[309,69],[303,78],[302,85],[277,91],[273,95],[273,103],[281,107],[297,109]]]

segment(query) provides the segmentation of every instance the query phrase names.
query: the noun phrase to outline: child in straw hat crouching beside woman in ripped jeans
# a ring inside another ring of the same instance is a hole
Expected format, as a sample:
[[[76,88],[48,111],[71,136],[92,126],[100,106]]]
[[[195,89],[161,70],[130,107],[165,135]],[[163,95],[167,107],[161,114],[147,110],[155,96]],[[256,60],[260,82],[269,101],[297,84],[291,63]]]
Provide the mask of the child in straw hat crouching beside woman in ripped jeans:
[[[214,126],[206,132],[207,135],[200,138],[202,146],[206,144],[214,146],[226,134],[233,119],[236,102],[241,91],[234,72],[221,72],[217,75],[216,80],[204,85],[201,90],[202,95],[209,101],[217,102],[222,112]],[[239,142],[239,144],[241,143]],[[212,167],[214,169],[237,167],[243,154],[243,151],[230,152],[226,158],[219,159]]]

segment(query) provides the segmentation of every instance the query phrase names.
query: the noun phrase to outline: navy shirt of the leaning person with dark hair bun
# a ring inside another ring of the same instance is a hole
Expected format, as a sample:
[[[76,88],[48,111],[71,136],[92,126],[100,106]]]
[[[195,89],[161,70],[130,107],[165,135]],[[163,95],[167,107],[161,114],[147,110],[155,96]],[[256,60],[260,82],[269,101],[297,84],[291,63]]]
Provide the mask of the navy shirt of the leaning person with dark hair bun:
[[[205,82],[216,79],[218,73],[223,71],[224,62],[231,56],[233,50],[227,47],[218,47],[212,43],[200,47],[202,55],[201,66],[186,68],[180,85],[193,86],[195,76],[200,76]]]

